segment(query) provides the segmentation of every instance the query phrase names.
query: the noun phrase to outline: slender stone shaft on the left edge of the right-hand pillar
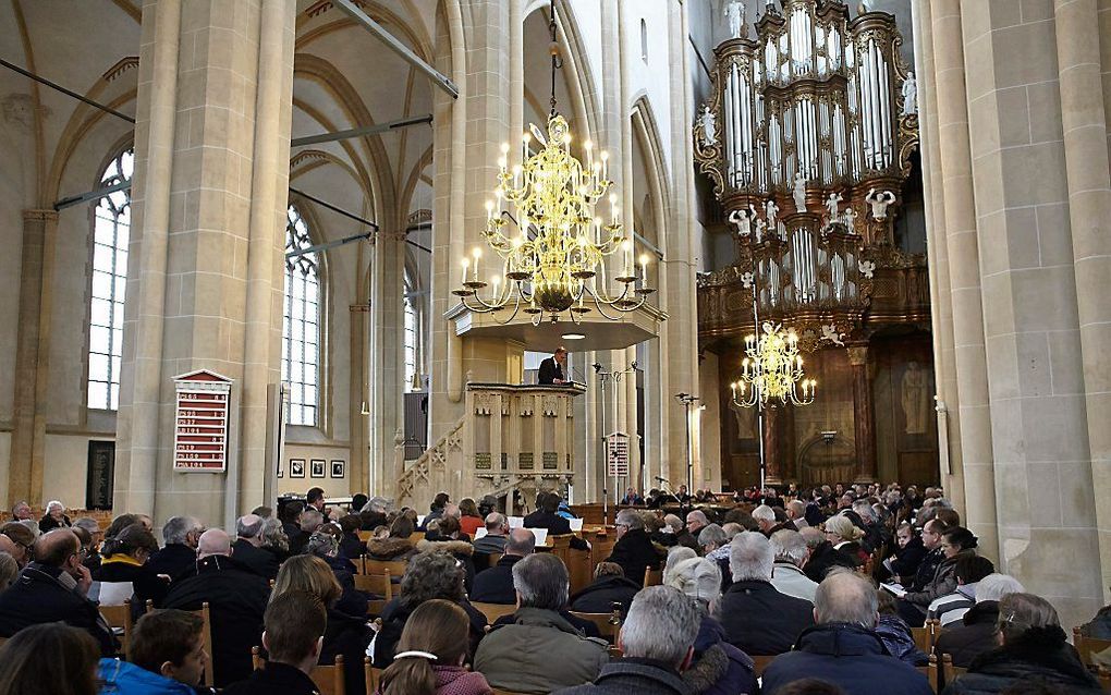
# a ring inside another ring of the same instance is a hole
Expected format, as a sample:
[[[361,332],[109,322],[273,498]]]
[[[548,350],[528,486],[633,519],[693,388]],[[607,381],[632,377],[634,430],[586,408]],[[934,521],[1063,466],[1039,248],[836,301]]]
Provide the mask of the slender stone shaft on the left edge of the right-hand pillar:
[[[952,298],[954,364],[960,401],[960,441],[968,527],[988,555],[998,553],[992,408],[989,405],[981,304],[977,207],[972,187],[965,92],[964,46],[959,0],[931,2],[934,85],[937,86],[941,195]]]

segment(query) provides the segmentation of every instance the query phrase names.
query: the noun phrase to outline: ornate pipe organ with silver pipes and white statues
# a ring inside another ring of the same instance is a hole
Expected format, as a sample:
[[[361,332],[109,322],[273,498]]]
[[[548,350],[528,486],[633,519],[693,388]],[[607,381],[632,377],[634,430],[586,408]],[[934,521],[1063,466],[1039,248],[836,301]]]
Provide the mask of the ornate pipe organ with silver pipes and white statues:
[[[848,334],[872,269],[891,256],[885,212],[918,142],[913,78],[891,14],[850,19],[837,0],[781,6],[769,4],[754,38],[744,28],[717,47],[694,125],[695,160],[737,228],[740,270],[717,277],[743,278],[761,316],[800,335],[830,324]]]

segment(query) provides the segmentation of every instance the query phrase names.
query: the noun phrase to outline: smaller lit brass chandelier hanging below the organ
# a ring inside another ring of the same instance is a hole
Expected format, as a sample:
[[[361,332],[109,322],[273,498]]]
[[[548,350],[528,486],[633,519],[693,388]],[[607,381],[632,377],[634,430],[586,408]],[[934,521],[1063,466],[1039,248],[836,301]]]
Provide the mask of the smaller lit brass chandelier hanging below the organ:
[[[809,406],[818,381],[803,378],[799,337],[793,330],[765,321],[759,337],[744,338],[741,378],[730,384],[733,404],[742,408],[767,408],[770,400],[783,405]]]

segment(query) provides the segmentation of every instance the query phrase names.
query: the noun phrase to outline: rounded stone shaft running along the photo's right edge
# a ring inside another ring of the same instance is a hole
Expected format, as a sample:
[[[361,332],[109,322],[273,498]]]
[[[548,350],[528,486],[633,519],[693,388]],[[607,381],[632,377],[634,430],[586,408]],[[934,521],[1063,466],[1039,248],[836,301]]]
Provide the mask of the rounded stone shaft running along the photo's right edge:
[[[1107,93],[1100,70],[1100,18],[1095,0],[1057,0],[1057,58],[1061,91],[1069,224],[1077,284],[1077,312],[1088,411],[1088,446],[1103,567],[1111,585],[1111,176],[1108,161]],[[1104,4],[1104,18],[1111,7]],[[1104,36],[1103,40],[1108,40]],[[1108,594],[1104,593],[1104,603]]]

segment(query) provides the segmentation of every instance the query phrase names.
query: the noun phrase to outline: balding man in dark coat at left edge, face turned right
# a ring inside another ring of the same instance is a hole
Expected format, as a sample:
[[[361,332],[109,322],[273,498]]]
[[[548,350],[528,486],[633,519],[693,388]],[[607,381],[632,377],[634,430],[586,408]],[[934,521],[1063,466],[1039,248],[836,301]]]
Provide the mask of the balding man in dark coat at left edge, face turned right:
[[[88,598],[92,576],[81,564],[80,550],[77,536],[68,528],[39,536],[34,560],[0,594],[0,637],[11,637],[31,625],[61,622],[89,633],[104,656],[116,654],[112,631]]]

